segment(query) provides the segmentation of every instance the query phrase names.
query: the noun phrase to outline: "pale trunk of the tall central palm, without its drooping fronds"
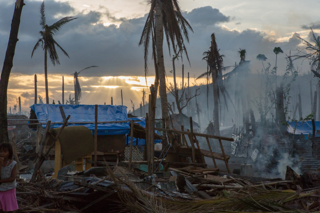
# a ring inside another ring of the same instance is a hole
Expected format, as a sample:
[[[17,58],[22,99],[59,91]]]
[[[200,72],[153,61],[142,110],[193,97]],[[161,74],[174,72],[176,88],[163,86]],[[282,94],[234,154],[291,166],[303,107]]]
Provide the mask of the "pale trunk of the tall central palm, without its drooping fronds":
[[[168,127],[169,111],[168,111],[168,98],[167,98],[167,87],[165,82],[165,69],[164,69],[164,56],[163,56],[163,22],[162,22],[161,6],[158,1],[156,1],[155,28],[156,28],[155,30],[156,54],[157,54],[162,118],[164,118],[166,127]]]

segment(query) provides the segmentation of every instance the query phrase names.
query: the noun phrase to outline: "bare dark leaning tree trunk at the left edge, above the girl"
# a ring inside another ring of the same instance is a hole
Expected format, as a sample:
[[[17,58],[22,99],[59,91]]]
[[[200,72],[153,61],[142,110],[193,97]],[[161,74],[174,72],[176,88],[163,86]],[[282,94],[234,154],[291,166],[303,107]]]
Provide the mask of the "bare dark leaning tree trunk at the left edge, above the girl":
[[[20,5],[17,5],[20,2]],[[13,56],[18,42],[18,32],[20,26],[20,17],[22,7],[24,5],[23,0],[17,1],[13,11],[13,17],[11,22],[11,30],[9,35],[9,41],[7,50],[5,52],[4,63],[2,67],[0,77],[0,141],[9,142],[8,137],[8,121],[7,121],[7,90],[9,83],[9,76],[11,68],[13,66]]]

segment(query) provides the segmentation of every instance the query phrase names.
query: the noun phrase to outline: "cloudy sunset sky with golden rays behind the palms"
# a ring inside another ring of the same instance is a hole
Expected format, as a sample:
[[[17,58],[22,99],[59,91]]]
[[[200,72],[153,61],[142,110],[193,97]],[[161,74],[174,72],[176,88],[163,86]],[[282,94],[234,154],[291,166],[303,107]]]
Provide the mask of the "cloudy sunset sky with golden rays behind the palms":
[[[34,75],[37,74],[38,94],[45,99],[44,52],[37,49],[31,58],[41,30],[39,26],[41,1],[25,0],[22,9],[12,72],[8,87],[8,108],[13,107],[21,96],[22,111],[29,111],[34,103]],[[0,61],[4,61],[10,34],[10,25],[15,1],[0,0]],[[216,34],[216,42],[224,57],[224,65],[240,61],[237,51],[246,49],[252,72],[261,69],[258,54],[264,54],[266,63],[275,65],[274,47],[281,47],[285,54],[292,54],[301,47],[300,36],[310,41],[310,27],[320,33],[318,0],[296,1],[235,1],[235,0],[181,0],[180,8],[194,33],[190,32],[186,44],[190,65],[185,56],[176,62],[178,82],[181,81],[181,66],[185,77],[190,73],[190,84],[199,84],[195,78],[206,71],[203,52],[210,47],[210,36]],[[48,25],[64,16],[78,19],[67,23],[54,39],[66,50],[69,57],[58,50],[60,65],[53,66],[48,60],[48,84],[50,103],[53,99],[62,102],[62,76],[65,79],[65,99],[74,97],[72,73],[81,72],[82,104],[121,104],[131,108],[139,105],[144,77],[143,49],[138,46],[149,5],[146,0],[45,0],[45,15]],[[278,55],[278,74],[286,66],[285,54]],[[164,61],[168,81],[172,82],[172,56],[164,43]],[[148,86],[154,81],[154,67],[149,57]],[[307,61],[296,61],[300,72],[308,72]],[[185,79],[186,82],[186,79]]]

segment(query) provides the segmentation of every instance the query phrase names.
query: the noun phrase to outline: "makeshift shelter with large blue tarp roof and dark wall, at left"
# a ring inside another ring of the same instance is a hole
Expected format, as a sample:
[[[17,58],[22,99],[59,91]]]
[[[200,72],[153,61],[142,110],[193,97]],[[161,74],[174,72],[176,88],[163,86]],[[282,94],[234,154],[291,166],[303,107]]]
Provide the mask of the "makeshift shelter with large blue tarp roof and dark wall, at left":
[[[85,126],[95,129],[94,105],[71,104],[34,104],[30,108],[36,119],[47,119],[54,123],[54,128],[61,127],[64,119],[70,115],[68,126]],[[130,132],[126,106],[98,105],[97,150],[101,155],[118,155],[124,151],[125,135]],[[114,121],[114,122],[113,122]],[[118,123],[117,123],[118,122]],[[43,127],[46,124],[42,125]]]

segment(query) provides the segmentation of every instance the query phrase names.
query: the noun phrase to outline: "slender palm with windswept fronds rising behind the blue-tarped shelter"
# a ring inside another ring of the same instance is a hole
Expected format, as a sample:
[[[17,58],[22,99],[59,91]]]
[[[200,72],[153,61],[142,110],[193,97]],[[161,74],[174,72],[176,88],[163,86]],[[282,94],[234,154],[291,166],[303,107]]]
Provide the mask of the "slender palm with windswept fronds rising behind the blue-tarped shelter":
[[[49,103],[49,92],[48,92],[48,72],[47,72],[47,53],[49,53],[50,60],[53,66],[57,63],[60,64],[58,53],[56,51],[56,46],[68,56],[68,53],[60,47],[60,45],[53,39],[54,33],[58,32],[63,25],[67,24],[68,22],[77,19],[73,16],[66,16],[60,19],[59,21],[55,22],[51,26],[46,24],[45,14],[44,14],[44,1],[40,6],[40,26],[43,31],[40,31],[40,38],[36,42],[35,47],[32,50],[31,57],[35,50],[40,47],[44,50],[44,80],[45,80],[45,99],[46,103]],[[69,57],[69,56],[68,56]]]

